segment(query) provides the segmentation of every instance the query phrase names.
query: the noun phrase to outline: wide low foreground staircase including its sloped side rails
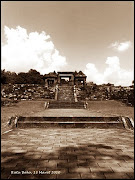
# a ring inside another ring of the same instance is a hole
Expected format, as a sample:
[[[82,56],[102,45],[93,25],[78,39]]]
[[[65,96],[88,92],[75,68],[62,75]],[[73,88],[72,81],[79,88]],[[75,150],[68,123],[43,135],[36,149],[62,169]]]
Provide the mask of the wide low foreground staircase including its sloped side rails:
[[[35,116],[14,117],[8,126],[14,128],[97,128],[134,130],[134,123],[129,117],[93,117],[93,116]]]

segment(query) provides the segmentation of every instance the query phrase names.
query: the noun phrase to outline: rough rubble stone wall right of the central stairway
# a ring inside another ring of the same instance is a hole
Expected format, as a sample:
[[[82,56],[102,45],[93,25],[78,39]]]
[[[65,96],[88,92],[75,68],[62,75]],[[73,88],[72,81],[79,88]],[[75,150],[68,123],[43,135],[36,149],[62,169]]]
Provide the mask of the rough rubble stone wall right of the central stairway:
[[[76,95],[81,100],[120,100],[134,106],[134,87],[91,85],[76,87]]]

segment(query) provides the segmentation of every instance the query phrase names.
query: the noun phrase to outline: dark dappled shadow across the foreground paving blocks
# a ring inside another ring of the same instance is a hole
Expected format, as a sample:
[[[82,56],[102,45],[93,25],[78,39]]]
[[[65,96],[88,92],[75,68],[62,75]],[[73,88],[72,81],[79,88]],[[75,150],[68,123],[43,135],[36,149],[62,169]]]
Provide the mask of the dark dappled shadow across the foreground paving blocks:
[[[119,152],[118,154],[116,152]],[[133,160],[133,157],[120,154],[121,150],[103,144],[80,144],[61,147],[55,153],[44,153],[36,150],[26,153],[1,153],[2,179],[105,179],[106,175],[121,179],[132,179],[133,172],[114,172],[110,166]],[[103,166],[100,166],[100,163]],[[108,165],[107,165],[108,164]],[[110,165],[110,166],[109,166]],[[32,174],[12,174],[11,171],[31,171]],[[49,172],[49,174],[33,174],[34,171]],[[52,174],[60,171],[60,174]]]

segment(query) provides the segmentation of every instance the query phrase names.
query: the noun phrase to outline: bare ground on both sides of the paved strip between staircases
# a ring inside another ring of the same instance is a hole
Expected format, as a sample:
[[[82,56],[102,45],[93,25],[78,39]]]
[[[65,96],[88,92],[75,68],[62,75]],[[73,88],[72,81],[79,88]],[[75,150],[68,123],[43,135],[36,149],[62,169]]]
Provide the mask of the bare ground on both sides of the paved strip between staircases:
[[[89,101],[87,109],[104,115],[128,116],[134,119],[134,107],[126,106],[119,101]],[[21,101],[9,107],[1,107],[1,131],[7,128],[9,117],[32,116],[44,111],[44,101]]]

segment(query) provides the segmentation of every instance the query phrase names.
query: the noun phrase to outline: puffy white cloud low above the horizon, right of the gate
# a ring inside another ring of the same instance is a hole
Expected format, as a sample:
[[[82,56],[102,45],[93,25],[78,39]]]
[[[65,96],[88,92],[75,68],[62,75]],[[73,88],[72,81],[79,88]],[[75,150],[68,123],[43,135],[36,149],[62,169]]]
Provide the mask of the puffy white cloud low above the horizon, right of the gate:
[[[133,71],[120,67],[120,60],[117,56],[107,57],[107,67],[103,73],[99,73],[94,64],[88,63],[84,73],[87,80],[96,84],[112,83],[114,85],[130,86],[133,81]]]

